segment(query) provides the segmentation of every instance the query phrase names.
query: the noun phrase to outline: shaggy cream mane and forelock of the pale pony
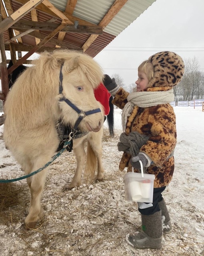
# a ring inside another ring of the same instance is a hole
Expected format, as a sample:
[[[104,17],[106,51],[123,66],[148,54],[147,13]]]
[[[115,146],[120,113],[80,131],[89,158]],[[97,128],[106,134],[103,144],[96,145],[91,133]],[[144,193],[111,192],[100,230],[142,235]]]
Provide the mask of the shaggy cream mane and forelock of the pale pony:
[[[27,68],[18,77],[11,91],[8,102],[6,100],[5,112],[10,104],[15,107],[10,109],[10,116],[14,120],[22,120],[22,115],[28,117],[38,115],[40,111],[56,112],[56,104],[59,94],[59,74],[60,67],[64,63],[63,70],[67,70],[69,62],[74,57],[78,57],[78,65],[75,70],[80,75],[88,78],[92,88],[96,88],[102,81],[103,72],[100,66],[92,57],[77,51],[56,50],[44,52],[38,59],[31,62],[32,66]],[[50,104],[50,98],[56,98],[56,102]],[[51,107],[50,107],[51,105]],[[34,113],[36,112],[36,113]]]

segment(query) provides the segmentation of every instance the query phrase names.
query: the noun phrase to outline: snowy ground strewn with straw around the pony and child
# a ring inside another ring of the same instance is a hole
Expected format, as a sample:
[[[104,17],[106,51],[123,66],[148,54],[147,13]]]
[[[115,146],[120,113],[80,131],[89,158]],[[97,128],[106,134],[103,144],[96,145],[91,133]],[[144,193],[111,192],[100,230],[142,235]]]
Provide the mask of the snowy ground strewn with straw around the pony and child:
[[[163,236],[160,250],[134,249],[127,233],[140,230],[136,203],[124,201],[123,176],[117,150],[121,129],[115,109],[115,133],[104,130],[103,182],[65,190],[76,168],[74,155],[63,153],[50,166],[42,196],[40,225],[25,231],[30,194],[25,180],[14,182],[16,203],[0,213],[1,256],[200,256],[204,255],[204,112],[202,107],[174,107],[178,140],[175,171],[163,195],[172,219],[172,233]],[[3,125],[0,126],[3,132]],[[0,176],[17,178],[24,173],[5,149],[0,137]]]

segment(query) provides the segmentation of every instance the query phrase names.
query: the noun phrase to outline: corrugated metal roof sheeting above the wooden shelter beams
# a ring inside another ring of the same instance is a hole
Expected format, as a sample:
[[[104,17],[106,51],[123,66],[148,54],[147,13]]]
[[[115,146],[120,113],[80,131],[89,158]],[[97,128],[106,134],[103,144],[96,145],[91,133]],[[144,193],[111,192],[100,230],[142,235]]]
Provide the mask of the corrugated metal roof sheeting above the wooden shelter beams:
[[[114,18],[112,18],[110,23],[104,28],[103,34],[98,35],[95,41],[93,41],[86,49],[85,53],[95,57],[100,51],[102,51],[102,49],[104,49],[104,47],[106,47],[106,45],[108,45],[118,34],[136,20],[136,18],[155,1],[156,0],[128,0]],[[18,8],[23,5],[20,2],[24,2],[24,0],[11,0],[14,11],[18,10]],[[50,2],[59,10],[65,11],[68,0],[50,0]],[[94,25],[98,25],[115,2],[115,0],[78,0],[72,16],[88,21]],[[42,6],[43,4],[40,5]],[[45,22],[53,17],[51,12],[50,14],[43,12],[38,9],[38,6],[36,9],[38,10],[38,21]],[[22,20],[32,20],[31,14],[26,14]],[[55,21],[55,23],[58,23],[59,25],[61,22],[62,20],[60,18],[57,18]],[[40,31],[40,33],[46,36],[49,35],[51,31]],[[4,32],[4,37],[9,39],[8,32]],[[89,34],[66,33],[63,42],[70,43],[77,47],[82,47],[89,37]],[[58,39],[58,34],[55,35],[54,38]],[[22,37],[22,42],[25,45],[36,45],[34,37],[29,34]],[[55,44],[48,41],[44,46],[55,47]]]

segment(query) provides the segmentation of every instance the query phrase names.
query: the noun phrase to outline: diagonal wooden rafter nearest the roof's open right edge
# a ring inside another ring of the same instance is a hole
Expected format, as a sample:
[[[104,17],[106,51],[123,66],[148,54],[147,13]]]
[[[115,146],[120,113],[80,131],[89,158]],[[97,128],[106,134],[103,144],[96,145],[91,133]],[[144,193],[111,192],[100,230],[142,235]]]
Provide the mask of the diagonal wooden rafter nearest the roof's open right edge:
[[[124,4],[126,4],[127,1],[128,0],[116,0],[98,25],[104,29],[110,23],[110,21],[116,16],[116,14],[121,10]],[[98,35],[91,35],[86,41],[86,43],[84,43],[84,45],[82,46],[82,49],[86,51],[86,49],[88,49],[88,47],[96,40],[97,37]]]

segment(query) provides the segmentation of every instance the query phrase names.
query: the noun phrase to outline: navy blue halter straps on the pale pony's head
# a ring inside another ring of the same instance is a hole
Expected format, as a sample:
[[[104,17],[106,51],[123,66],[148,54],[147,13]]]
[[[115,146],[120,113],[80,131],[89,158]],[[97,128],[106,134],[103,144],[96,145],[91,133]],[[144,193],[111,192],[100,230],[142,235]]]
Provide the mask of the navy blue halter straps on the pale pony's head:
[[[62,94],[62,91],[63,91],[63,87],[62,87],[62,80],[63,80],[63,74],[62,74],[62,68],[63,68],[63,65],[61,66],[60,68],[60,85],[59,85],[59,93]],[[101,112],[101,110],[98,108],[98,109],[93,109],[93,110],[90,110],[90,111],[82,111],[80,110],[77,106],[75,106],[70,100],[68,100],[68,98],[65,98],[64,96],[62,98],[60,98],[60,101],[65,101],[70,107],[72,107],[72,109],[74,109],[79,117],[74,125],[74,130],[76,131],[76,128],[78,127],[78,125],[80,124],[80,122],[82,121],[82,119],[88,115],[91,115],[91,114],[95,114],[95,113],[99,113]]]

